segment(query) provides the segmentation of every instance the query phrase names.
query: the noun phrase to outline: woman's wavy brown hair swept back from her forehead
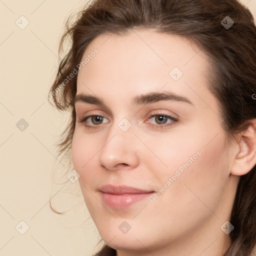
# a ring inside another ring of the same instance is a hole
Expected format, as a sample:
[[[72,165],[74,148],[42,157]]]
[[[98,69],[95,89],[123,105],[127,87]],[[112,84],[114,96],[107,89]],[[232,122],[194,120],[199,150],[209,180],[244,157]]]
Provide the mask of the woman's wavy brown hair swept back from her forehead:
[[[226,16],[234,22],[231,27],[224,27]],[[75,127],[77,74],[70,80],[66,77],[77,71],[84,50],[97,35],[121,34],[136,27],[183,36],[210,57],[209,89],[218,99],[228,139],[256,118],[256,27],[244,5],[236,0],[94,0],[74,22],[67,20],[59,45],[60,52],[64,41],[71,39],[49,91],[57,109],[71,110],[58,143],[59,154],[69,154]],[[234,226],[229,234],[232,245],[225,255],[250,254],[256,243],[255,213],[256,165],[240,177],[229,219]],[[105,245],[98,255],[112,256],[116,251]]]

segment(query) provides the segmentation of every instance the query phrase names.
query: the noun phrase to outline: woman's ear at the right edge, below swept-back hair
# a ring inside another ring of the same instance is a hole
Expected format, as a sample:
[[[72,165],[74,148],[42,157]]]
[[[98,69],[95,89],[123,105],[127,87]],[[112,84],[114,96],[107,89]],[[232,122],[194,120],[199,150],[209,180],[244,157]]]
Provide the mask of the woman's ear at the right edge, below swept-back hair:
[[[256,164],[256,119],[238,136],[237,150],[231,167],[231,174],[244,175]]]

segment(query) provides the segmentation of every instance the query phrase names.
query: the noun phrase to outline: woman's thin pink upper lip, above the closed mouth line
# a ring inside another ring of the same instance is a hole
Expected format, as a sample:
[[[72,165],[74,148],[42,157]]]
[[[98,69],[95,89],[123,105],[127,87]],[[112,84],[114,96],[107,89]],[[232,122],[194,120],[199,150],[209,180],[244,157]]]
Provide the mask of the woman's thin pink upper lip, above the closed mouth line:
[[[99,188],[101,192],[104,193],[109,193],[109,194],[138,194],[138,193],[150,193],[154,192],[153,190],[144,190],[144,189],[139,189],[136,187],[132,186],[126,186],[126,185],[111,185],[111,184],[106,184],[103,185]]]

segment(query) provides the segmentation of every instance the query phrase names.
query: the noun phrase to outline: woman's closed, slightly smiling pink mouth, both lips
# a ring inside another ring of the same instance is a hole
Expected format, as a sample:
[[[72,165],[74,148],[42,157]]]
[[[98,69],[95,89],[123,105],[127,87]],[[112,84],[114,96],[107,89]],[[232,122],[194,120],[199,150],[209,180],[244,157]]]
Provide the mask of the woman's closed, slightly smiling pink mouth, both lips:
[[[146,199],[155,192],[153,190],[111,184],[100,187],[99,191],[103,203],[111,208],[126,208],[133,203]]]

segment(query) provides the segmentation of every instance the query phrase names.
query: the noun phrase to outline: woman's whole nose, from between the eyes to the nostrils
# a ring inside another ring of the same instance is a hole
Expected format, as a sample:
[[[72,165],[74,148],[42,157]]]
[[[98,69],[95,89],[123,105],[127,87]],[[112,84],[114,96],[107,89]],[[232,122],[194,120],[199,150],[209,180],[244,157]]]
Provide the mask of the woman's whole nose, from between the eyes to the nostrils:
[[[109,125],[105,143],[99,152],[99,161],[107,169],[113,169],[117,164],[137,164],[136,147],[131,122],[127,118],[115,120]]]

